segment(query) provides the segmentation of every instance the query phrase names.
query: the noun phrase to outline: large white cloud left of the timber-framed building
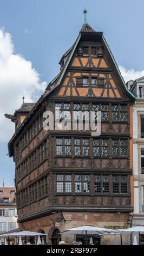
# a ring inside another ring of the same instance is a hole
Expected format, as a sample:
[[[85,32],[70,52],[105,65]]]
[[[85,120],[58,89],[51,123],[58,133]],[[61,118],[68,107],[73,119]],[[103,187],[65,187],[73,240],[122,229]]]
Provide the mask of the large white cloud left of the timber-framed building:
[[[32,63],[19,54],[14,54],[14,44],[9,33],[0,29],[0,142],[8,142],[14,133],[14,123],[4,117],[14,114],[15,109],[25,102],[38,99],[44,92],[46,82],[32,68]]]

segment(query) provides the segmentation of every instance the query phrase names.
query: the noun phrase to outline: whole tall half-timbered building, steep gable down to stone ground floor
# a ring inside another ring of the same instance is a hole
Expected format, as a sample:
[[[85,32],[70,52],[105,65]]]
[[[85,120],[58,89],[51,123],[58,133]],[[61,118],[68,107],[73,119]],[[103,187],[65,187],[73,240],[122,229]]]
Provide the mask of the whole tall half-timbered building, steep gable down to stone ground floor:
[[[84,23],[60,65],[60,73],[35,104],[23,102],[14,115],[6,114],[16,126],[9,156],[16,164],[19,226],[47,233],[52,244],[60,231],[79,225],[129,227],[133,212],[134,96],[103,33]],[[55,122],[54,129],[44,130],[43,113],[53,112],[56,120],[61,115],[57,108],[74,113],[76,123],[80,111],[86,111],[83,129],[73,130],[67,117],[71,130],[56,130]],[[102,113],[99,137],[84,125],[90,111],[95,122],[97,111]],[[84,242],[84,236],[79,238]],[[110,244],[110,239],[93,236],[101,244]]]

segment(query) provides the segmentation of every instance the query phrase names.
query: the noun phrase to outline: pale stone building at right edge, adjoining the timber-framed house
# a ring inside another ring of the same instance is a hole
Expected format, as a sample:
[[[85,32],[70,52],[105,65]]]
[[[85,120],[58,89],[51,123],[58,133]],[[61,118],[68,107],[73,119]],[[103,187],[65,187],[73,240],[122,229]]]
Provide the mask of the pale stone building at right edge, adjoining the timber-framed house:
[[[129,82],[127,83],[129,84]],[[144,77],[130,81],[133,106],[134,215],[133,225],[144,225]]]

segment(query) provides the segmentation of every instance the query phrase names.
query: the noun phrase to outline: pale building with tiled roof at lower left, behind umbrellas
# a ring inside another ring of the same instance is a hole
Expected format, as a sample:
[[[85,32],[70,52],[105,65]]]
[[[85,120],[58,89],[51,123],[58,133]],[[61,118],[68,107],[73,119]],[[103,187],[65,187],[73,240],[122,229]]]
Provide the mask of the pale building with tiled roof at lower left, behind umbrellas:
[[[15,187],[0,187],[0,234],[18,228]]]

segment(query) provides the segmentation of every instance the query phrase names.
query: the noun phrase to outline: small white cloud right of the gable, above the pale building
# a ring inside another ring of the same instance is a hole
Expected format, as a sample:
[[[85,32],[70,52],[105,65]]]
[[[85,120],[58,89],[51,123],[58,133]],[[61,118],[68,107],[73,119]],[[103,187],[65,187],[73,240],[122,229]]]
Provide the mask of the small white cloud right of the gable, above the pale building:
[[[121,71],[121,75],[123,76],[125,82],[128,82],[129,80],[135,80],[139,77],[144,76],[144,70],[141,70],[141,71],[135,71],[134,69],[127,70],[123,66],[119,66],[119,69]]]

